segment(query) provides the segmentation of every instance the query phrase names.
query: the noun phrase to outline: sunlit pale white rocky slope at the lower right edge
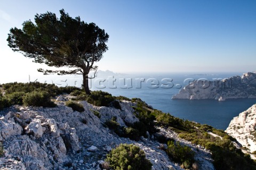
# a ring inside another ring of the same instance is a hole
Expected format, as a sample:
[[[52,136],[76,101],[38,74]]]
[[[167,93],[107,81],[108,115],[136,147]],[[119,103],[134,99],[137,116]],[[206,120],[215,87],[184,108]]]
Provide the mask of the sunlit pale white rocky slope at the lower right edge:
[[[256,151],[256,104],[234,117],[227,130],[229,135],[241,143],[243,151],[250,154]],[[256,159],[254,155],[252,158]]]

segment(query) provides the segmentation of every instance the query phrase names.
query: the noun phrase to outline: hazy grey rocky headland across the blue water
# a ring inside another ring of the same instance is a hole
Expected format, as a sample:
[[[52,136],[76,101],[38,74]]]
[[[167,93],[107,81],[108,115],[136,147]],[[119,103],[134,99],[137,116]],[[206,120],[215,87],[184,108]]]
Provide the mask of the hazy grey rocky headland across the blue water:
[[[172,99],[256,98],[256,74],[245,73],[223,80],[195,80],[174,95]]]

